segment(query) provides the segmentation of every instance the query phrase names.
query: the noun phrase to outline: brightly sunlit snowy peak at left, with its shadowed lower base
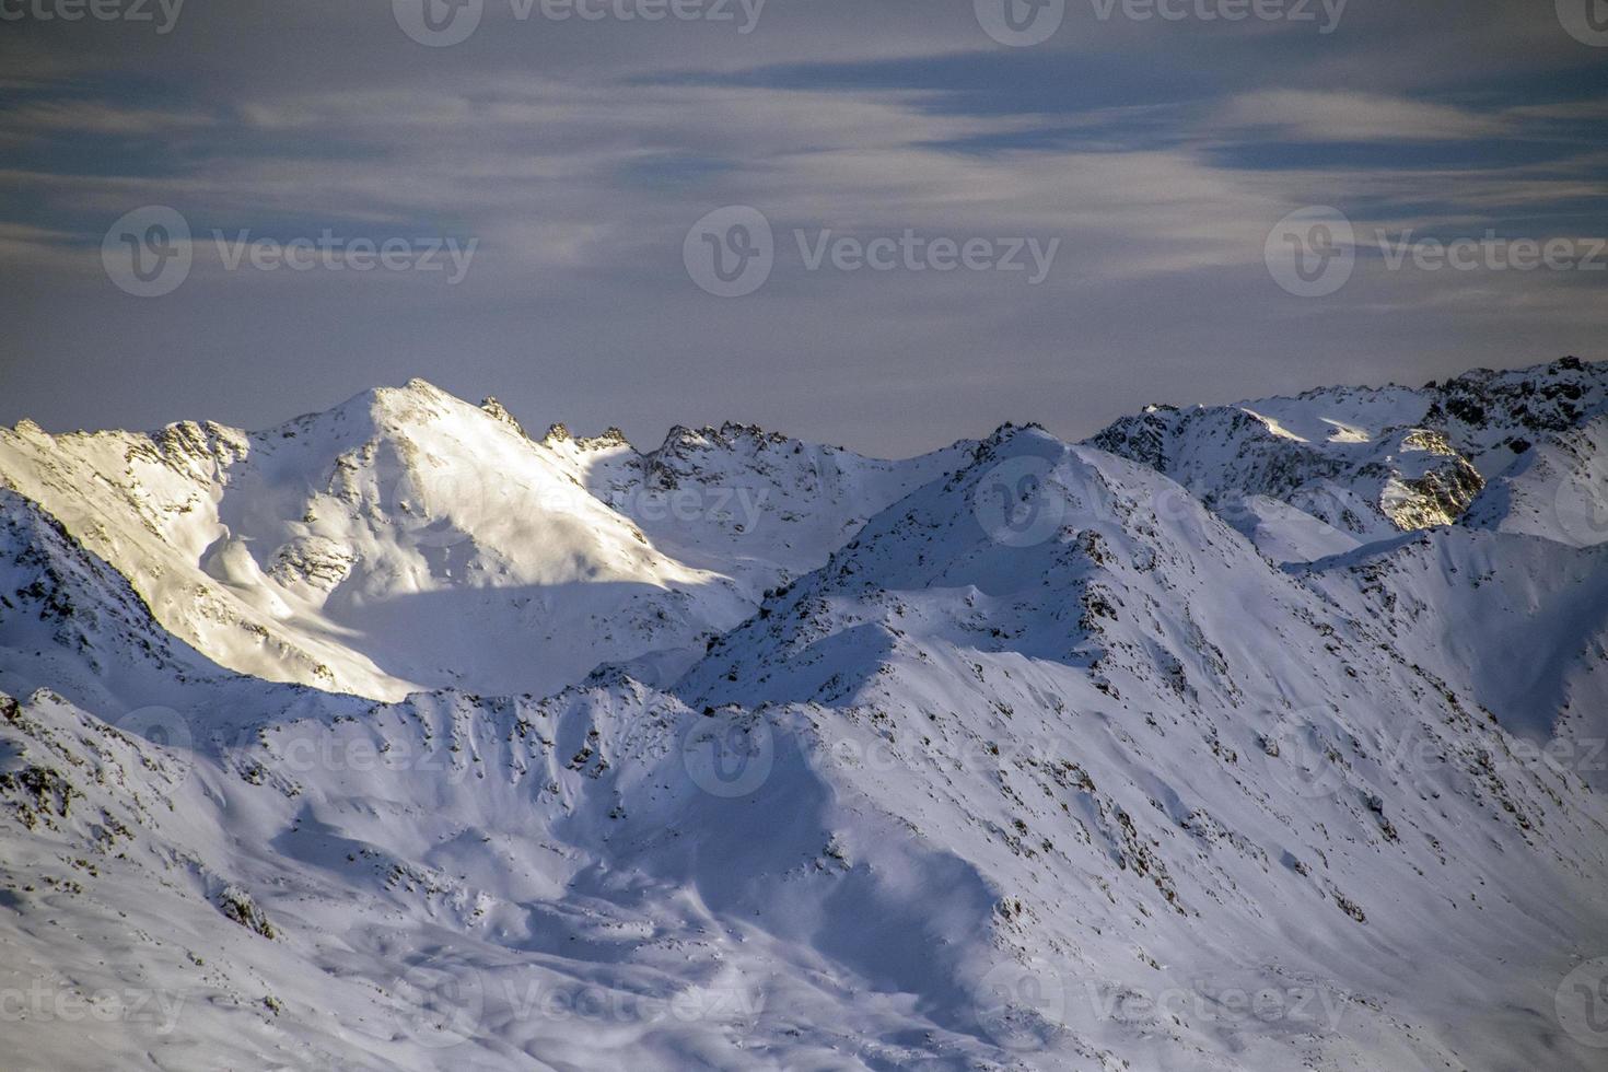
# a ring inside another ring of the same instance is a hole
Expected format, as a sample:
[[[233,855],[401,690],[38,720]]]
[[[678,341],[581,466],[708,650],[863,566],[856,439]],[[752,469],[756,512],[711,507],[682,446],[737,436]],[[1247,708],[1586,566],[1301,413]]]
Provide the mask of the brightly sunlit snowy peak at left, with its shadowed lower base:
[[[0,481],[219,662],[376,698],[552,691],[701,648],[748,601],[656,551],[498,415],[423,381],[246,434],[0,431]]]

